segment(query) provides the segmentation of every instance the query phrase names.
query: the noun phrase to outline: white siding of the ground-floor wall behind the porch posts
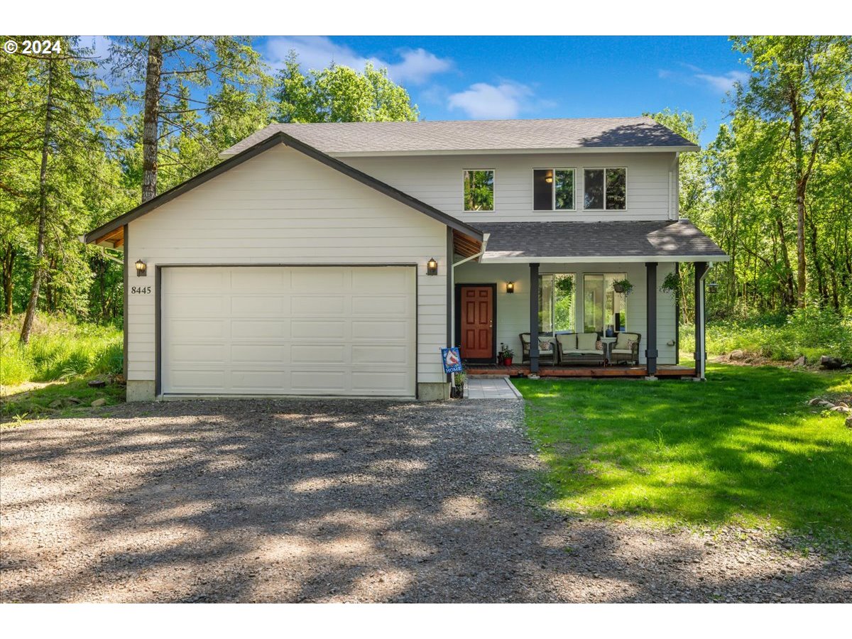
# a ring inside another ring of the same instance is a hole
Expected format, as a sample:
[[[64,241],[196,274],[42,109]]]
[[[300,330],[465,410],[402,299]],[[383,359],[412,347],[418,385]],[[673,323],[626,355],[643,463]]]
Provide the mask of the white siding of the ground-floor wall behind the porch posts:
[[[659,291],[666,274],[671,273],[673,263],[657,265],[657,349],[659,364],[676,364],[675,337],[677,331],[675,302],[669,293]],[[530,279],[527,264],[477,264],[467,262],[456,268],[456,284],[497,284],[497,343],[508,343],[521,360],[520,333],[529,331]],[[627,273],[633,284],[633,292],[627,296],[627,331],[642,334],[640,343],[641,362],[645,361],[648,343],[648,314],[646,305],[645,265],[637,263],[587,263],[587,264],[542,264],[539,273],[576,273],[575,292],[576,325],[583,322],[583,274],[584,273]],[[515,282],[515,293],[506,293],[506,282]],[[458,339],[457,339],[458,341]],[[669,342],[672,344],[670,345]]]

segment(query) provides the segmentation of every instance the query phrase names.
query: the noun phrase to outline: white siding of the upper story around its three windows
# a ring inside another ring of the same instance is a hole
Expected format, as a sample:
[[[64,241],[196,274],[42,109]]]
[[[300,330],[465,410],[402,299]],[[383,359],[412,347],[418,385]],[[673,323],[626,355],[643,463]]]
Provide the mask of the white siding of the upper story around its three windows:
[[[475,224],[665,220],[670,214],[674,215],[669,176],[674,159],[675,153],[518,153],[344,158],[344,161],[445,213]],[[533,169],[552,167],[575,169],[576,210],[533,212]],[[625,167],[627,210],[583,210],[584,167]],[[462,174],[465,169],[494,170],[493,211],[462,210]]]

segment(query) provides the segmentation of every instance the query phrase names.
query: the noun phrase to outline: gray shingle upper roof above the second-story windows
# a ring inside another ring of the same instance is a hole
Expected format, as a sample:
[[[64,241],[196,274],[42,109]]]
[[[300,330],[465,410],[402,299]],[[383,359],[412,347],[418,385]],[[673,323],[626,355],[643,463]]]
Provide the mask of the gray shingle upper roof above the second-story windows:
[[[270,124],[239,141],[233,155],[284,131],[323,153],[425,153],[571,148],[698,149],[651,118],[458,120]]]

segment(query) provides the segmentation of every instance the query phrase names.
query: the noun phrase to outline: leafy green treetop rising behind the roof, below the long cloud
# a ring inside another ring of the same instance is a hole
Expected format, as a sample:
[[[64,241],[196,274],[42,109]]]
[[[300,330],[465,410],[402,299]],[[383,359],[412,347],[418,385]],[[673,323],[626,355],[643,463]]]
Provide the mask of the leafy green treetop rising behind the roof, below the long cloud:
[[[291,51],[276,79],[279,122],[390,122],[419,115],[406,89],[395,84],[386,69],[370,64],[364,72],[331,65],[305,75]]]

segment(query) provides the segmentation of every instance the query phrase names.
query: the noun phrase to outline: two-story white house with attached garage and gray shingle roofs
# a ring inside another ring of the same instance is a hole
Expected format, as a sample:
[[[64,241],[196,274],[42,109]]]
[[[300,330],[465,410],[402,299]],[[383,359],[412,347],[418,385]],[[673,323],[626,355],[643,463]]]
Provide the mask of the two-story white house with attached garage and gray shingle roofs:
[[[269,126],[85,236],[124,250],[128,399],[441,399],[448,345],[653,376],[677,363],[681,262],[702,378],[728,256],[678,216],[696,149],[649,118]]]

